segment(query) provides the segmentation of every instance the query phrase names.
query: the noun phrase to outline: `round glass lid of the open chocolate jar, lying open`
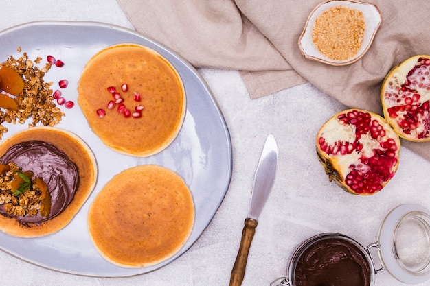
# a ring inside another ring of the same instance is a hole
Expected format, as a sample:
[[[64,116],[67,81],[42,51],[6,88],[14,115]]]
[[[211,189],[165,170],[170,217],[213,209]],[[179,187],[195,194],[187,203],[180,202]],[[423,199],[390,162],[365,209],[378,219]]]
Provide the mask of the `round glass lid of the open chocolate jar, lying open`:
[[[430,212],[418,204],[394,208],[381,226],[381,259],[394,278],[408,284],[430,279]]]

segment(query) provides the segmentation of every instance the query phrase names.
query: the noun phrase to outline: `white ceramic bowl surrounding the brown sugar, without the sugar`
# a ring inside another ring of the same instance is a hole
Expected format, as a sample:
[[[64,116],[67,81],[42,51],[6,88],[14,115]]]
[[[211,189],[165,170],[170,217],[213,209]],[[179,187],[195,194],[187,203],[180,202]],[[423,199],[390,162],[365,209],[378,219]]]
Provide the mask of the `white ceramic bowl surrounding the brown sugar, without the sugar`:
[[[363,12],[363,16],[365,19],[365,31],[363,36],[363,42],[361,43],[361,49],[359,49],[355,56],[352,56],[352,58],[348,58],[346,60],[332,60],[330,58],[327,58],[317,49],[312,40],[312,31],[315,25],[315,20],[318,18],[318,16],[320,16],[322,13],[326,12],[332,7],[339,6],[360,10],[361,12]],[[331,64],[335,66],[352,64],[353,62],[357,62],[357,60],[364,56],[366,51],[369,49],[375,34],[379,26],[381,25],[381,21],[381,12],[379,12],[378,8],[371,3],[350,0],[325,1],[317,5],[317,7],[315,7],[314,10],[310,13],[302,35],[299,38],[299,49],[300,51],[302,51],[302,54],[305,56],[305,58],[308,58],[310,60],[317,60],[319,62],[324,62],[326,64]]]

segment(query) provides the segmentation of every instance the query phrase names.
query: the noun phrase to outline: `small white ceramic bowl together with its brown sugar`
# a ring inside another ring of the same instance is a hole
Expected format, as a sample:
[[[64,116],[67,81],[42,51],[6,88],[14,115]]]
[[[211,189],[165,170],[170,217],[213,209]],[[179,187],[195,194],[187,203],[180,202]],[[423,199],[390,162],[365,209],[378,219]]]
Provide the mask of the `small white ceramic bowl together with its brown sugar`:
[[[357,13],[354,14],[354,12]],[[337,16],[343,21],[330,23],[330,17],[327,18],[328,13],[332,13],[332,19],[335,19],[337,13]],[[361,23],[361,20],[357,18],[357,14],[362,14],[364,23]],[[356,25],[348,23],[351,19]],[[319,23],[316,27],[315,25],[319,20],[323,20],[323,23]],[[334,66],[352,64],[363,57],[370,48],[381,21],[381,12],[372,3],[352,0],[325,1],[317,5],[310,13],[299,37],[299,49],[303,56],[310,60]],[[317,31],[315,31],[315,27]],[[363,32],[359,29],[363,29]],[[321,49],[321,46],[318,47],[315,44],[315,36],[325,47]],[[349,42],[350,45],[345,45],[346,42]],[[335,47],[337,43],[339,43],[339,47]]]

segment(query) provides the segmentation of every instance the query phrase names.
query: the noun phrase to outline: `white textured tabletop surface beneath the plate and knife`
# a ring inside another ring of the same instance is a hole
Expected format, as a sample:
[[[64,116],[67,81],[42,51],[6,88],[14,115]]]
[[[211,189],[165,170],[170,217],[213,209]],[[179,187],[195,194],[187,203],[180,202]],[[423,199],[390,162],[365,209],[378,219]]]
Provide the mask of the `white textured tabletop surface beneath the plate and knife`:
[[[2,2],[0,30],[39,20],[100,21],[132,27],[114,0]],[[248,212],[253,173],[268,133],[278,139],[278,176],[258,222],[242,285],[269,285],[285,276],[291,254],[310,236],[339,232],[367,246],[377,240],[378,228],[392,208],[405,203],[430,208],[430,163],[406,149],[401,151],[396,176],[377,195],[349,195],[328,182],[315,155],[315,135],[344,106],[310,84],[251,100],[236,71],[200,71],[229,126],[233,176],[218,213],[194,246],[155,272],[110,279],[45,270],[0,252],[2,285],[228,285]],[[375,285],[404,284],[383,272],[376,275]]]

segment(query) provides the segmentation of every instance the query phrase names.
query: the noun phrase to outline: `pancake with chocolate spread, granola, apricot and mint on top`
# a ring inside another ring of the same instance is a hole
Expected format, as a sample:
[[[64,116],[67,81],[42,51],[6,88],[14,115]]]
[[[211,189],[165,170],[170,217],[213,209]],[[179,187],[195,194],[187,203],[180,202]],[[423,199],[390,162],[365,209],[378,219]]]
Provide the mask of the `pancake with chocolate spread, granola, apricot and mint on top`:
[[[0,144],[0,230],[42,237],[64,228],[89,198],[97,164],[76,134],[33,127]]]

